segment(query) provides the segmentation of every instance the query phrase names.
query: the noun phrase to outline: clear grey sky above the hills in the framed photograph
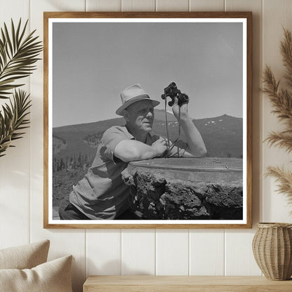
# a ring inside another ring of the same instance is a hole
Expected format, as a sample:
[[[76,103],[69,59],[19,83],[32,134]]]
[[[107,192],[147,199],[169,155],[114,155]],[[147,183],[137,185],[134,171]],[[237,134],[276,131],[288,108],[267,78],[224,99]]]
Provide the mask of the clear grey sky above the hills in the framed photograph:
[[[243,115],[241,23],[55,22],[51,44],[53,127],[118,117],[136,83],[163,109],[174,81],[192,119]]]

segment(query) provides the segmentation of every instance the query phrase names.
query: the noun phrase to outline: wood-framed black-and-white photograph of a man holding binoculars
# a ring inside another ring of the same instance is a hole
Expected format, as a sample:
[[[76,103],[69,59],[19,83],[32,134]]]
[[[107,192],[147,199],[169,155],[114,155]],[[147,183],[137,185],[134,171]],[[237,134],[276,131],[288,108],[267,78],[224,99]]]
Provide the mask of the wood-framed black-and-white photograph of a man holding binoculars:
[[[250,228],[251,12],[44,13],[44,227]]]

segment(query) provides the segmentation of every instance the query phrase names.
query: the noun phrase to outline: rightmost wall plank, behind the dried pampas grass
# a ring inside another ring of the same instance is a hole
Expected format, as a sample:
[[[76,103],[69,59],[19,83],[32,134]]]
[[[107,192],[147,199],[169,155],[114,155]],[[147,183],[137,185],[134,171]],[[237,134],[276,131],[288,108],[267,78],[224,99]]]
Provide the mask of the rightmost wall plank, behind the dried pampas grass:
[[[277,79],[282,78],[284,66],[281,62],[279,50],[280,41],[283,39],[283,29],[292,29],[291,22],[292,1],[290,0],[263,0],[263,65],[270,65],[272,72]],[[282,78],[281,85],[285,86]],[[263,138],[267,137],[270,131],[278,131],[283,126],[276,116],[271,114],[272,107],[267,96],[263,98]],[[282,166],[291,168],[292,156],[286,154],[278,147],[267,147],[263,144],[263,171],[267,166]],[[291,206],[287,205],[286,198],[275,192],[274,178],[263,180],[263,220],[267,222],[291,222],[289,214]]]

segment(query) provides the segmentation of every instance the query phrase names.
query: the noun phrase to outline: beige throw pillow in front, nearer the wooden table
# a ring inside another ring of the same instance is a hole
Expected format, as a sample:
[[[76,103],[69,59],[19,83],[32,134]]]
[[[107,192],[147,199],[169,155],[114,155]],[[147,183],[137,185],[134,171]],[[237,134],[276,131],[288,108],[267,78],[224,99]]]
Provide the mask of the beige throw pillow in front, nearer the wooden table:
[[[0,291],[72,292],[72,255],[52,260],[31,270],[0,270]]]

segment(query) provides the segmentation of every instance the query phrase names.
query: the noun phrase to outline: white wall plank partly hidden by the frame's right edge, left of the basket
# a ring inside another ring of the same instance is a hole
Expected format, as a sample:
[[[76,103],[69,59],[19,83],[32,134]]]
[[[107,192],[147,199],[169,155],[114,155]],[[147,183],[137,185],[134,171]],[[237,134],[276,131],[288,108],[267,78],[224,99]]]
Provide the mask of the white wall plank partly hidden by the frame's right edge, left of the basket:
[[[262,220],[261,206],[261,164],[262,164],[262,1],[261,0],[226,0],[226,11],[253,12],[253,225]],[[251,241],[255,229],[225,230],[225,273],[227,275],[261,274],[253,258]]]

